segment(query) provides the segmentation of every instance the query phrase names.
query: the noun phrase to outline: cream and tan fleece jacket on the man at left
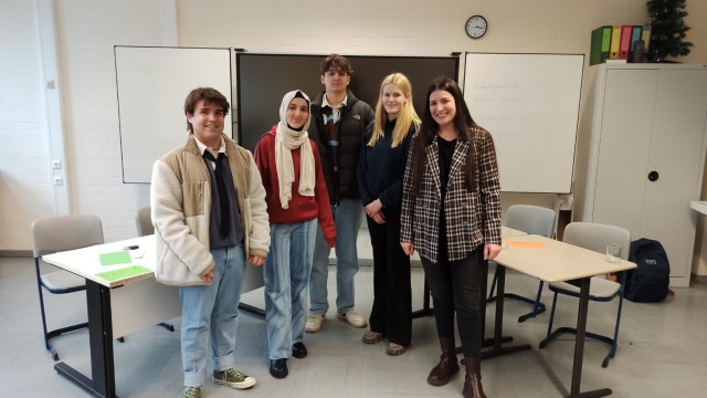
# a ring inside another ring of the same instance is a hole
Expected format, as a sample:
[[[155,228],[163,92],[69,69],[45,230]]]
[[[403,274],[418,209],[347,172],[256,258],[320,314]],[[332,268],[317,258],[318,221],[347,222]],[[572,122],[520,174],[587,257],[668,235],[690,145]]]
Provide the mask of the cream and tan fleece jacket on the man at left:
[[[233,185],[241,208],[246,259],[266,256],[270,223],[265,189],[251,153],[223,135]],[[156,239],[155,277],[169,285],[204,284],[213,270],[209,250],[211,187],[209,170],[193,136],[187,144],[155,161],[150,206]]]

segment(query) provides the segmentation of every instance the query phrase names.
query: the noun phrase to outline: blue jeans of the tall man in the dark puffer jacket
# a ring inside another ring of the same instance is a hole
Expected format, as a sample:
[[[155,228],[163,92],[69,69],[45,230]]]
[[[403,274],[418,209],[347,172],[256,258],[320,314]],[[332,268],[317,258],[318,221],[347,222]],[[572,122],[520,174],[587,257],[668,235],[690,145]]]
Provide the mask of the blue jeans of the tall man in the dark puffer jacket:
[[[336,308],[346,314],[355,307],[354,276],[358,272],[356,238],[361,227],[363,206],[360,199],[344,199],[339,206],[331,206],[336,224]],[[325,315],[329,310],[327,277],[329,276],[329,252],[321,228],[317,228],[314,244],[314,262],[309,277],[309,312]]]

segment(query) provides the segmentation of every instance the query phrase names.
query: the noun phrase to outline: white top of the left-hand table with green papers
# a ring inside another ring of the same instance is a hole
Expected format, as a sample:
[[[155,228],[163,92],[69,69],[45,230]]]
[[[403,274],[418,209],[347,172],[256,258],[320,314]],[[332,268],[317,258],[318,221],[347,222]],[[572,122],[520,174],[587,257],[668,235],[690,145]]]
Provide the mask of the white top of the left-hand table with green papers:
[[[139,245],[137,250],[129,250],[133,262],[129,264],[101,265],[99,254],[122,251],[128,245]],[[106,281],[96,276],[97,273],[119,270],[130,265],[141,265],[146,269],[155,270],[155,235],[147,235],[123,241],[96,244],[88,248],[63,251],[54,254],[43,255],[42,260],[56,265],[63,270],[75,273],[80,276],[99,283],[104,286],[115,287],[128,282],[140,281],[155,276],[154,272],[128,276],[115,281]]]

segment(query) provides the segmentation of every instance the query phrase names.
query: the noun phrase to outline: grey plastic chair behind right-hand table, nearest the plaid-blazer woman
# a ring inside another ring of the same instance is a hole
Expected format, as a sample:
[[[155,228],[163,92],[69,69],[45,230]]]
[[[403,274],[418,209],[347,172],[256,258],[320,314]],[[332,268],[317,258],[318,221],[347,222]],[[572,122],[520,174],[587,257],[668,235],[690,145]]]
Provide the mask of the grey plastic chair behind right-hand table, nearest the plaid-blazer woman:
[[[530,234],[552,238],[555,234],[556,218],[556,211],[552,209],[530,205],[514,205],[508,208],[508,212],[506,213],[506,227]],[[490,292],[488,293],[486,302],[494,302],[497,298],[494,295],[497,279],[498,274],[494,272],[494,280],[490,284]],[[545,304],[540,303],[542,286],[544,282],[540,281],[535,300],[515,293],[504,294],[504,298],[518,300],[532,305],[532,311],[519,316],[518,322],[525,322],[526,320],[545,312]]]

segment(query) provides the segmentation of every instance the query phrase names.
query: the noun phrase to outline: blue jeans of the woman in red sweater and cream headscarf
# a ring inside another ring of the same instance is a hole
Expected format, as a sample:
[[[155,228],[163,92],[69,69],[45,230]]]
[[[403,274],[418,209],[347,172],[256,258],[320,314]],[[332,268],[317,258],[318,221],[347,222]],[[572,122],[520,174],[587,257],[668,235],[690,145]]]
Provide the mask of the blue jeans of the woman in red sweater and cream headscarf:
[[[312,271],[317,219],[270,224],[265,261],[265,317],[271,359],[289,358],[292,345],[305,336],[307,281]]]

